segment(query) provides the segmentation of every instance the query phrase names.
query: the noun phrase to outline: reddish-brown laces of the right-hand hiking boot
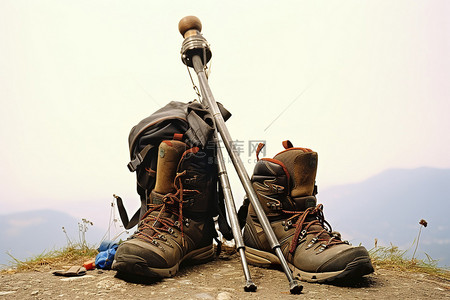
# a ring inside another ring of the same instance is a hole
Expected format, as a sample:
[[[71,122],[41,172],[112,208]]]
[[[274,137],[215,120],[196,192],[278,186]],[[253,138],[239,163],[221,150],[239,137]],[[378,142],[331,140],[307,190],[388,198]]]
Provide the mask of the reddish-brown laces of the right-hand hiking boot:
[[[291,254],[308,234],[314,234],[314,237],[306,248],[312,247],[315,243],[320,243],[319,253],[333,245],[348,244],[348,242],[341,240],[339,233],[332,231],[330,223],[325,220],[322,204],[309,207],[305,211],[283,210],[283,212],[292,215],[286,222],[293,223],[292,226],[295,227],[291,248],[289,249]]]

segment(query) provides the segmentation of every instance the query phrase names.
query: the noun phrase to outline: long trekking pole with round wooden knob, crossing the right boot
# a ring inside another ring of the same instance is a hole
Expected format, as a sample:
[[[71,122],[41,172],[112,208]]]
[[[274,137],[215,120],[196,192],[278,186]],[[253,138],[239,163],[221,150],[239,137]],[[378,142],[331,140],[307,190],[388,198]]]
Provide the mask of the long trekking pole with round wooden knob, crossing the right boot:
[[[225,125],[225,120],[223,119],[219,107],[217,106],[217,103],[211,92],[211,89],[209,88],[208,79],[206,78],[204,72],[204,66],[211,59],[212,53],[209,49],[208,42],[200,33],[200,31],[202,30],[202,24],[197,17],[189,16],[180,20],[178,29],[181,35],[184,37],[184,41],[181,47],[182,61],[186,66],[193,68],[197,73],[200,83],[200,89],[203,92],[204,102],[207,106],[207,109],[214,117],[216,130],[219,131],[222,137],[222,141],[225,145],[225,148],[227,149],[231,161],[233,162],[234,168],[236,169],[244,190],[247,193],[249,200],[255,210],[256,216],[258,217],[258,220],[267,235],[267,240],[270,244],[270,247],[280,260],[281,267],[286,274],[287,279],[289,280],[289,290],[291,294],[299,294],[302,291],[303,286],[300,285],[296,280],[294,280],[292,276],[289,265],[287,264],[287,261],[283,256],[283,252],[281,251],[280,243],[278,242],[278,239],[275,236],[272,227],[270,226],[269,220],[267,219],[267,216],[258,201],[258,197],[253,190],[250,178],[248,177],[244,164],[239,157],[239,153],[237,152],[236,148],[232,146],[231,135],[228,132],[228,129]],[[219,147],[217,148],[220,150]]]

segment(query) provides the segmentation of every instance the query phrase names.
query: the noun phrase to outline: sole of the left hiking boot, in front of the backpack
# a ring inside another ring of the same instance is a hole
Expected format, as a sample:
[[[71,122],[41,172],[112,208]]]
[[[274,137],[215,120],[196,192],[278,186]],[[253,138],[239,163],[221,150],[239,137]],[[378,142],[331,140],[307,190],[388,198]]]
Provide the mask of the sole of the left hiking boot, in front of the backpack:
[[[190,264],[202,264],[214,259],[213,245],[193,250],[186,254],[178,263],[170,268],[154,268],[147,265],[142,257],[123,254],[115,259],[112,268],[120,273],[132,274],[150,278],[173,277],[183,262]]]

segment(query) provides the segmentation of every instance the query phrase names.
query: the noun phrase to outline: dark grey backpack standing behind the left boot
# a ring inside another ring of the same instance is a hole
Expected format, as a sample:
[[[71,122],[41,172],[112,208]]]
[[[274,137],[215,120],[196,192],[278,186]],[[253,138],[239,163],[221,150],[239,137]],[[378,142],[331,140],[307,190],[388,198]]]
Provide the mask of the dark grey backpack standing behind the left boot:
[[[231,117],[220,103],[219,108],[225,120]],[[189,103],[172,101],[154,112],[149,117],[134,126],[129,134],[128,143],[130,159],[128,169],[136,172],[137,192],[141,207],[129,220],[123,201],[115,196],[117,208],[125,229],[134,227],[147,211],[150,192],[155,186],[157,173],[158,147],[164,140],[180,139],[190,147],[204,149],[215,162],[215,146],[212,141],[214,133],[214,118],[203,105],[197,101]],[[217,172],[215,181],[218,185],[213,216],[219,216],[219,228],[222,235],[231,240],[231,228],[226,221],[223,194],[218,184]]]

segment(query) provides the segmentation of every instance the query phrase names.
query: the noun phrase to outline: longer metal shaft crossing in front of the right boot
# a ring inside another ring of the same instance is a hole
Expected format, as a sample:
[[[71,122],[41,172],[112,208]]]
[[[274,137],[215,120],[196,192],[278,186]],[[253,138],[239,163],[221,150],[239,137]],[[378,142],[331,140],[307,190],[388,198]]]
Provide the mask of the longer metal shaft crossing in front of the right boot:
[[[247,193],[251,204],[253,205],[258,220],[261,223],[261,226],[265,234],[267,235],[267,240],[270,244],[270,247],[274,250],[275,254],[280,260],[281,267],[283,268],[284,273],[286,274],[286,277],[289,280],[291,293],[299,293],[302,290],[302,286],[299,285],[297,281],[295,281],[294,278],[292,277],[292,272],[289,269],[286,259],[280,249],[280,243],[278,242],[278,239],[275,236],[272,227],[270,226],[269,220],[267,219],[267,216],[264,213],[264,210],[262,209],[261,204],[258,201],[258,197],[255,191],[253,190],[250,178],[248,177],[244,164],[242,163],[242,160],[239,157],[239,153],[237,153],[237,150],[231,145],[232,141],[231,135],[228,132],[228,129],[225,125],[225,120],[223,119],[219,107],[217,106],[217,103],[211,92],[211,89],[209,88],[208,79],[206,78],[206,75],[203,70],[202,59],[198,55],[194,55],[194,57],[192,58],[192,62],[194,70],[197,73],[200,86],[204,90],[203,96],[208,106],[208,109],[210,110],[211,114],[214,117],[216,127],[220,135],[222,136],[225,148],[227,149],[227,152],[231,157],[231,161],[233,162],[233,165],[236,169],[239,179],[241,180],[244,190]]]

